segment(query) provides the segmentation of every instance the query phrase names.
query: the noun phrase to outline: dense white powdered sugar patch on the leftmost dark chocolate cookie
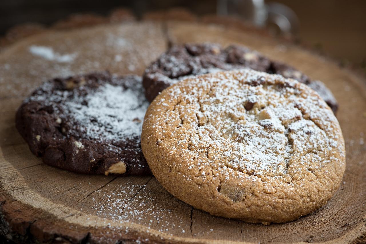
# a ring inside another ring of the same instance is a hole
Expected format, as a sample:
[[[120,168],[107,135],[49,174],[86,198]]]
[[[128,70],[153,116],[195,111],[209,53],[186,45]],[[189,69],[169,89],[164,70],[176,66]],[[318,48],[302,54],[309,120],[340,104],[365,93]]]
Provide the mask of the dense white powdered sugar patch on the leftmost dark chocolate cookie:
[[[83,106],[82,101],[87,106]],[[117,140],[140,136],[147,106],[149,103],[143,99],[143,94],[105,84],[85,98],[67,101],[64,108],[87,137]]]

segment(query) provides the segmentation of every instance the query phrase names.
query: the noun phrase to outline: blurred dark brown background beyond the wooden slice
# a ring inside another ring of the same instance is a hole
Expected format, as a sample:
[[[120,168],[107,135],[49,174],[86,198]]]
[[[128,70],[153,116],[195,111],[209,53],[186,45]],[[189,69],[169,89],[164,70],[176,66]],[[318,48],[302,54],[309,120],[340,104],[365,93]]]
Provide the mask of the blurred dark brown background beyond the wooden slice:
[[[172,7],[197,15],[236,15],[366,69],[366,0],[0,0],[0,35],[21,23],[50,25],[72,13],[107,15],[120,7],[139,18]]]

